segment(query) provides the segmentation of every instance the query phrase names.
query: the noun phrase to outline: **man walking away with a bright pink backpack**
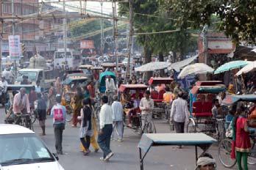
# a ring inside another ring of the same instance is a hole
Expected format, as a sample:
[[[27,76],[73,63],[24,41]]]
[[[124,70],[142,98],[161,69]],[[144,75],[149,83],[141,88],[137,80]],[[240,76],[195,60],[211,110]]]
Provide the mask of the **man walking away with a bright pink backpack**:
[[[53,127],[55,136],[55,148],[57,154],[63,155],[63,130],[65,129],[65,106],[60,105],[61,96],[56,95],[57,104],[51,108],[51,117],[53,117]]]

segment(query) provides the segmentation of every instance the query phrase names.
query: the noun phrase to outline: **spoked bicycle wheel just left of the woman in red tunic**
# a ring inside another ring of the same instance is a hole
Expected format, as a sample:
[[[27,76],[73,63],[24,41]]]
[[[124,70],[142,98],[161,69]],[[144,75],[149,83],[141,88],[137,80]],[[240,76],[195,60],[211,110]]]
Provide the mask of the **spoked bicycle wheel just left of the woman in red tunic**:
[[[227,168],[235,166],[236,160],[230,157],[232,149],[232,140],[230,138],[224,138],[218,144],[218,159],[222,165]]]

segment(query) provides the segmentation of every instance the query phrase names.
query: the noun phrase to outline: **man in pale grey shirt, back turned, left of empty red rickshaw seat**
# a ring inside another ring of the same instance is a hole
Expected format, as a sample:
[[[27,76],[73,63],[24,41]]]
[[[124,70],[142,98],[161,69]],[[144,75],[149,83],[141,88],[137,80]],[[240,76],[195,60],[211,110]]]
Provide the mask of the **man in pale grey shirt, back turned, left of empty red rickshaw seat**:
[[[182,99],[182,95],[182,92],[178,92],[178,98],[171,106],[171,122],[174,122],[176,133],[184,133],[185,122],[188,122],[188,102]]]

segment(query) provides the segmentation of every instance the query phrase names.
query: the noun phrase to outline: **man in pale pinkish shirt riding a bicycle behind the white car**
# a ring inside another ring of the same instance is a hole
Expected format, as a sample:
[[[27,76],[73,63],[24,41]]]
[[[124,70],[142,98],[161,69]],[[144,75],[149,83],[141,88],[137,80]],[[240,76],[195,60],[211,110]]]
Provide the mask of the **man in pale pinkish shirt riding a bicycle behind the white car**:
[[[26,89],[22,87],[13,99],[13,114],[15,115],[15,124],[19,124],[21,119],[19,115],[30,114],[29,97],[26,95]],[[26,117],[26,119],[30,119]]]

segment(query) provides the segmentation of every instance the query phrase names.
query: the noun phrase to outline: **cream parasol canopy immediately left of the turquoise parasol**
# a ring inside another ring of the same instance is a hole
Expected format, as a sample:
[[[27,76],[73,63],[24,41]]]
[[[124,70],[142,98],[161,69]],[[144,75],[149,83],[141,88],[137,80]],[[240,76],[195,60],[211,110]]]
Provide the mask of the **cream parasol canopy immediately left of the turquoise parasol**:
[[[191,74],[205,74],[213,73],[213,68],[204,63],[190,64],[182,69],[179,73],[178,78],[184,78]]]

